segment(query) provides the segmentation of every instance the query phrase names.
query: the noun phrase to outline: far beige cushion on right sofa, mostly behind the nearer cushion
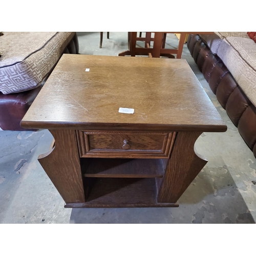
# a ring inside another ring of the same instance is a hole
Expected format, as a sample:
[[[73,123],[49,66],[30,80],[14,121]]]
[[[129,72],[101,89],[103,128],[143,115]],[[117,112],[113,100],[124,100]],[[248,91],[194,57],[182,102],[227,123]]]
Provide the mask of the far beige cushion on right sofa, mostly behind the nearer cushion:
[[[202,40],[214,54],[217,54],[222,40],[227,36],[249,38],[247,32],[214,32],[214,34],[211,35],[200,35]]]

